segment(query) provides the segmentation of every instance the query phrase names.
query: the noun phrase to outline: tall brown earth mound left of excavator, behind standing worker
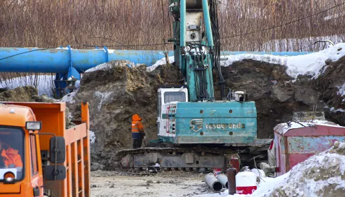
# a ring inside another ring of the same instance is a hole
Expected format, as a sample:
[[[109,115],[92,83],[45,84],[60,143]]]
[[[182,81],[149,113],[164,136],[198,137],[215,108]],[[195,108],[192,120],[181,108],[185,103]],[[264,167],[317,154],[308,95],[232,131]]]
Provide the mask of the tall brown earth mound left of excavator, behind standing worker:
[[[95,132],[93,155],[96,160],[108,162],[108,152],[132,147],[130,123],[132,115],[139,114],[147,139],[157,138],[156,93],[159,85],[177,84],[182,76],[174,66],[159,66],[146,72],[146,66],[129,68],[129,61],[112,61],[86,72],[81,79],[77,94],[65,96],[73,118],[79,118],[75,106],[81,101],[89,102],[90,130]],[[99,163],[103,163],[100,161]]]

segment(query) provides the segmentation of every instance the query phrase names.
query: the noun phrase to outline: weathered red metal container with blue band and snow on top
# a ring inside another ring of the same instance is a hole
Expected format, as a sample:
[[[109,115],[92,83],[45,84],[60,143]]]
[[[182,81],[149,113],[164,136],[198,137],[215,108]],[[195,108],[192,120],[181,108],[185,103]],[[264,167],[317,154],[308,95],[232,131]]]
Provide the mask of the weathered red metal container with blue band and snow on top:
[[[331,148],[335,141],[345,140],[345,127],[328,121],[318,121],[313,123],[313,127],[293,123],[289,128],[286,123],[282,123],[275,126],[274,130],[277,176],[286,174],[314,154]]]

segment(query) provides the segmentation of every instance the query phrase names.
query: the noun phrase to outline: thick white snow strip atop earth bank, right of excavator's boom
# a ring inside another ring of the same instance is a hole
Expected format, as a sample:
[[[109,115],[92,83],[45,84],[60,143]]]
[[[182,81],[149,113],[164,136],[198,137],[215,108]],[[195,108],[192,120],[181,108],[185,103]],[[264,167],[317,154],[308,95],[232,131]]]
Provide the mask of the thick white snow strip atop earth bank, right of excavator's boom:
[[[296,78],[299,74],[311,74],[314,78],[322,74],[322,68],[326,65],[326,60],[337,61],[342,56],[345,56],[345,43],[338,43],[325,50],[314,52],[311,54],[304,54],[299,56],[273,56],[269,54],[237,54],[225,56],[228,58],[222,61],[222,66],[232,65],[235,61],[242,61],[244,59],[253,59],[256,61],[264,61],[267,63],[275,63],[285,65],[286,72]]]

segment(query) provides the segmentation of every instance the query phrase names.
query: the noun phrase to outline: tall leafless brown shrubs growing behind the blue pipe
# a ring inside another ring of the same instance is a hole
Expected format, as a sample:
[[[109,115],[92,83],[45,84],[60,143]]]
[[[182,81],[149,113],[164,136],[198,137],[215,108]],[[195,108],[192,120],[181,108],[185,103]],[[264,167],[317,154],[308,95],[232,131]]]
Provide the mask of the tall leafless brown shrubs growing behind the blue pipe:
[[[228,37],[221,39],[222,50],[315,51],[324,47],[313,45],[315,41],[345,40],[345,6],[322,12],[343,0],[219,2],[221,37]],[[172,37],[168,0],[3,0],[0,13],[1,47],[110,45],[117,50],[172,50],[172,45],[142,45]],[[1,79],[14,76],[1,74]]]

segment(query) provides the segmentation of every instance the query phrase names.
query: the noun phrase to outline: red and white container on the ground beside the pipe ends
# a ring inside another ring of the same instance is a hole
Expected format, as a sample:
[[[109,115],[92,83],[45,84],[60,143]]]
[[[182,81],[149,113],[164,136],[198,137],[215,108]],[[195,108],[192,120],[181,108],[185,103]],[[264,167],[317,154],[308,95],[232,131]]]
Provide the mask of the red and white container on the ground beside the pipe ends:
[[[252,194],[257,189],[257,176],[253,172],[239,172],[235,177],[237,194]]]

